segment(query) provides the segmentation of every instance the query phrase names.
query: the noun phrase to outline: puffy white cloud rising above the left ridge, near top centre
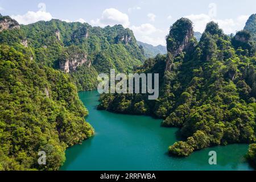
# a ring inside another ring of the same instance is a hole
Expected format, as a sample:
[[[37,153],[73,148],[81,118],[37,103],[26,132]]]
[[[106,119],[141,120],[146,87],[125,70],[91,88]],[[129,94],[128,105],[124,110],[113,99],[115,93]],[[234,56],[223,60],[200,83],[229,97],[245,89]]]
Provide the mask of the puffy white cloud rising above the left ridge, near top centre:
[[[101,18],[91,20],[90,23],[92,23],[94,26],[101,27],[108,25],[114,26],[115,24],[122,24],[122,26],[128,27],[130,24],[129,16],[114,8],[105,9],[101,15]]]

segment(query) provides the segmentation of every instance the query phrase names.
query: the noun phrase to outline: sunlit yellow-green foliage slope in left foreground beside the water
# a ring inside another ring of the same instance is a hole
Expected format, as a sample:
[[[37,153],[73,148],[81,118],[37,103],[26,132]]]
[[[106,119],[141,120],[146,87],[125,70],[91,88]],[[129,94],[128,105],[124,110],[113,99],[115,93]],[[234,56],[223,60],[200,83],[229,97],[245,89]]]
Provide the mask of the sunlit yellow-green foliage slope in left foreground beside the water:
[[[0,169],[59,169],[65,148],[93,134],[68,75],[31,60],[28,48],[0,46]],[[46,165],[38,164],[45,151]]]

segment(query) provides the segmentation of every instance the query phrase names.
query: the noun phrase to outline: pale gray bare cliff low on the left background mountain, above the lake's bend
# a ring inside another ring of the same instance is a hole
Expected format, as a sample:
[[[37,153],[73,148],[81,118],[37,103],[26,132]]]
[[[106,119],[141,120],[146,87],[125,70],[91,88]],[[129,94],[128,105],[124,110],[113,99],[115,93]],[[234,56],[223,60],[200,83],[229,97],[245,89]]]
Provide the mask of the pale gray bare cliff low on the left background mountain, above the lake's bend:
[[[90,67],[91,62],[85,54],[68,55],[64,60],[60,60],[59,67],[61,71],[69,73],[76,71],[77,67],[85,63]]]

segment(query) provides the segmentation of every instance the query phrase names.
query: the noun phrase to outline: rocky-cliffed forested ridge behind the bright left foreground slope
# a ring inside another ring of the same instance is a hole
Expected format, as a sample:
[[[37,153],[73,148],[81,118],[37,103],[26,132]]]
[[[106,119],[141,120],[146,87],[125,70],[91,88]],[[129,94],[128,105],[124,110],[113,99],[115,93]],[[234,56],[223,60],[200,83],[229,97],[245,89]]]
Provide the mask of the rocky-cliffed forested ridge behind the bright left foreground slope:
[[[97,73],[131,72],[145,59],[133,32],[121,25],[100,28],[52,19],[2,31],[0,43],[32,48],[38,63],[70,73],[79,90],[96,89]]]

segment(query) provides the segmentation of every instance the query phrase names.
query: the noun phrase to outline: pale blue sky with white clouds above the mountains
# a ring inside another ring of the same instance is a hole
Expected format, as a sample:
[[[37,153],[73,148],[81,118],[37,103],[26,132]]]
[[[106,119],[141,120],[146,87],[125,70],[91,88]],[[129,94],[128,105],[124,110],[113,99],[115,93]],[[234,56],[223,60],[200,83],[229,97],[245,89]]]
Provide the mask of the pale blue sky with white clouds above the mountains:
[[[166,45],[170,26],[179,18],[192,20],[194,31],[203,32],[213,20],[226,34],[242,30],[256,13],[255,0],[0,0],[0,13],[20,24],[52,18],[92,26],[122,24],[141,42]]]

